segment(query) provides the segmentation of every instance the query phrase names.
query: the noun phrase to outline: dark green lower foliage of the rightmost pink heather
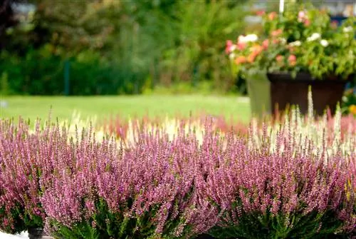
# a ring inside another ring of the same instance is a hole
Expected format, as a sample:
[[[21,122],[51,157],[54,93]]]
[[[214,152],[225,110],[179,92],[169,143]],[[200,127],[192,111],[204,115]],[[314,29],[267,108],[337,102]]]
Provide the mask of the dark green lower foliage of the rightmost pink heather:
[[[271,213],[244,213],[239,223],[225,222],[224,227],[211,229],[215,238],[277,239],[277,238],[346,238],[337,235],[342,222],[333,213],[312,212],[307,215],[273,216]],[[330,237],[332,235],[332,237]]]

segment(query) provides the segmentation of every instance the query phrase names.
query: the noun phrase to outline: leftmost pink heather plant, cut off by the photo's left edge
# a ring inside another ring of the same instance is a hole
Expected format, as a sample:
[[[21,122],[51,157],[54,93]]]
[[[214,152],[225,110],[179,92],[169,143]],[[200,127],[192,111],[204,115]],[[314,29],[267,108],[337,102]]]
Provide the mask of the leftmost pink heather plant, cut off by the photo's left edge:
[[[36,123],[31,133],[29,123],[0,121],[0,230],[19,233],[43,226],[46,213],[40,197],[53,163],[67,148],[67,133],[49,123]]]

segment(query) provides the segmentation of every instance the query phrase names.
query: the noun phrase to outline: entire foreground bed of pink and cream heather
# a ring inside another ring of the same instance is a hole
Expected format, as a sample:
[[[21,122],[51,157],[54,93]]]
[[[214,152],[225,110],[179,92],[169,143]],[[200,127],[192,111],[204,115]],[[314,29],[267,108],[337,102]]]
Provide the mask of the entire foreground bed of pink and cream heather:
[[[356,119],[293,110],[84,128],[0,121],[0,230],[55,238],[352,238]]]

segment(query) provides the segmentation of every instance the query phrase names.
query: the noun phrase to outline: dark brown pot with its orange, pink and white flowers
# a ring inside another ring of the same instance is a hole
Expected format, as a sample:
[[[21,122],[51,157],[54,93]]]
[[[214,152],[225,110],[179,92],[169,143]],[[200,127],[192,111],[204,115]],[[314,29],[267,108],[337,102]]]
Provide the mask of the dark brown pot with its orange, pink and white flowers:
[[[264,36],[241,44],[228,42],[226,52],[235,72],[266,73],[271,86],[271,111],[297,104],[308,111],[308,87],[314,109],[335,112],[347,81],[356,70],[355,17],[341,26],[330,21],[327,11],[293,5],[283,14],[263,14]]]

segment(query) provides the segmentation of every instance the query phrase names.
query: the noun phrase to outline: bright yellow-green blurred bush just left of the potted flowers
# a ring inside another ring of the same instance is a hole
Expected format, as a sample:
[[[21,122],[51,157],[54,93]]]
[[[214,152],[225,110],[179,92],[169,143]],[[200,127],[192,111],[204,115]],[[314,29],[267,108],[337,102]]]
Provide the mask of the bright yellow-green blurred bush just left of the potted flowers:
[[[229,1],[179,1],[178,9],[178,44],[165,51],[160,81],[194,84],[209,80],[214,88],[227,91],[236,79],[222,54],[224,39],[236,38],[244,29],[241,4],[229,7]]]

